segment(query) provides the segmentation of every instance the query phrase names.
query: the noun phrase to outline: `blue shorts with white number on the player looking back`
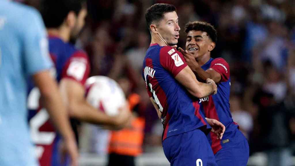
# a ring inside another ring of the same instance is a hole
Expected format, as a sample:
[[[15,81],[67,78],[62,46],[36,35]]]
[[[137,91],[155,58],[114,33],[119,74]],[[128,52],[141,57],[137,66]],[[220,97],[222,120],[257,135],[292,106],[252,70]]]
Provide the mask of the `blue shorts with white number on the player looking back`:
[[[217,166],[209,141],[200,129],[166,138],[163,149],[171,166]]]

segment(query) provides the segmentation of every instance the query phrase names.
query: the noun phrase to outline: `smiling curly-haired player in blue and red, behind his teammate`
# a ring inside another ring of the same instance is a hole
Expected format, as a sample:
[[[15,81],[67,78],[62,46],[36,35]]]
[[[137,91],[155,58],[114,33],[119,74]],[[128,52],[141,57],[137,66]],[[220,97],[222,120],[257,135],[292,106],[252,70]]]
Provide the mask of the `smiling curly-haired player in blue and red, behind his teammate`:
[[[179,49],[186,63],[200,80],[210,78],[217,84],[217,94],[199,99],[204,115],[220,121],[226,128],[222,140],[216,139],[217,135],[212,132],[207,135],[217,165],[245,166],[249,158],[248,142],[230,113],[230,66],[223,58],[210,56],[217,31],[207,22],[196,21],[186,24],[185,32],[186,51]]]

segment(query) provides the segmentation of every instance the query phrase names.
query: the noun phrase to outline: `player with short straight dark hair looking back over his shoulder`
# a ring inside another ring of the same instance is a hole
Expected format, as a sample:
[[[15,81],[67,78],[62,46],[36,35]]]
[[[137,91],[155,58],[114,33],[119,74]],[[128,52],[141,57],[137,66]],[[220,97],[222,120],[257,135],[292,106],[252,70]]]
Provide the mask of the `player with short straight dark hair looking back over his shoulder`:
[[[183,55],[171,47],[177,44],[180,30],[173,5],[154,4],[147,9],[145,19],[151,44],[142,77],[163,123],[165,156],[171,165],[216,166],[206,135],[212,125],[221,139],[224,126],[216,120],[206,121],[199,109],[199,98],[216,93],[216,84],[212,79],[206,84],[198,82]]]

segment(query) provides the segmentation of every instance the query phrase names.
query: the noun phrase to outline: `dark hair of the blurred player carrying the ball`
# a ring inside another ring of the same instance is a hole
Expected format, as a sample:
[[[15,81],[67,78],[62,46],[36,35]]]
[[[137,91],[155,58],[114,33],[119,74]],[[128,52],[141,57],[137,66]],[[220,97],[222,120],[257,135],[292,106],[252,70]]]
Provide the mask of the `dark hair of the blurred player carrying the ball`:
[[[62,25],[69,12],[76,15],[82,9],[84,0],[42,0],[41,15],[47,28],[57,28]]]

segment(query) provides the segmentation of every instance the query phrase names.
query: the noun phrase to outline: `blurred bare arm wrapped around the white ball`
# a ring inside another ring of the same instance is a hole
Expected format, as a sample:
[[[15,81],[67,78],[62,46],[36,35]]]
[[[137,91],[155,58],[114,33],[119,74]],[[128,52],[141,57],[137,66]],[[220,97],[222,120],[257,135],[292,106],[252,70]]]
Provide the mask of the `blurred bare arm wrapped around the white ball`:
[[[81,121],[104,124],[122,128],[130,118],[130,111],[127,104],[120,108],[119,114],[116,116],[109,116],[102,111],[94,108],[85,99],[85,89],[79,82],[63,78],[60,81],[60,91],[62,93],[64,102],[68,106],[70,116]]]

